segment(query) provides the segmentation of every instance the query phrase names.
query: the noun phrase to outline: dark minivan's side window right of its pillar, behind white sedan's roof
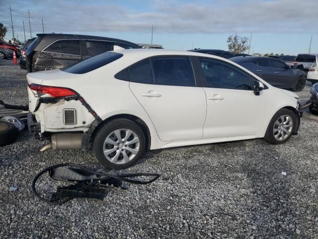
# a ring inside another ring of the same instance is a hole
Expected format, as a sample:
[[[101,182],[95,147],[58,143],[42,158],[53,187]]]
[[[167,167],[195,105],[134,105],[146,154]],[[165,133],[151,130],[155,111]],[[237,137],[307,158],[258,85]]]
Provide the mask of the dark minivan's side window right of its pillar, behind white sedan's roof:
[[[82,56],[96,56],[106,51],[114,50],[114,42],[85,40],[84,47]]]

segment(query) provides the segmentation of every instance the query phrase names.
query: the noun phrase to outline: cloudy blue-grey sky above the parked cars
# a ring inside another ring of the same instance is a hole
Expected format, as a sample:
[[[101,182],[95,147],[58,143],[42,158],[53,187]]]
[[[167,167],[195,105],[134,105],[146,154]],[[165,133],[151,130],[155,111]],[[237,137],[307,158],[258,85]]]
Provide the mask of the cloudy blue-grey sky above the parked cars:
[[[168,49],[227,49],[227,36],[252,36],[252,49],[260,53],[318,52],[317,0],[0,0],[0,22],[10,26],[8,4],[19,39],[22,20],[32,34],[82,33],[154,43]],[[10,36],[9,29],[8,36]],[[26,33],[29,37],[29,32]]]

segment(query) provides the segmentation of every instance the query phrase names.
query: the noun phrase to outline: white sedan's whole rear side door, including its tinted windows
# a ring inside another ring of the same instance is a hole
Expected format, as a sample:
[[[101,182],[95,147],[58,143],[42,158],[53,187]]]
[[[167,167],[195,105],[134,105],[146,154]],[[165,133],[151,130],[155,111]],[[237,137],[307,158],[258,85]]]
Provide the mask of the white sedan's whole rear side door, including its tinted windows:
[[[206,116],[205,93],[198,87],[188,56],[163,56],[131,67],[130,89],[153,121],[162,141],[198,139]]]

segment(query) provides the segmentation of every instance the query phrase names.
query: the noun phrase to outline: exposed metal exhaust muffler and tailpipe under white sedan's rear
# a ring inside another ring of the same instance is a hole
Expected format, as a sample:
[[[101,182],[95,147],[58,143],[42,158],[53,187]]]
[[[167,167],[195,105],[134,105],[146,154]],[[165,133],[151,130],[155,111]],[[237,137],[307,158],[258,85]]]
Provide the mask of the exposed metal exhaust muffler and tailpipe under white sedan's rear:
[[[43,146],[40,151],[44,152],[48,149],[66,150],[81,148],[82,133],[57,133],[51,136],[51,143]]]

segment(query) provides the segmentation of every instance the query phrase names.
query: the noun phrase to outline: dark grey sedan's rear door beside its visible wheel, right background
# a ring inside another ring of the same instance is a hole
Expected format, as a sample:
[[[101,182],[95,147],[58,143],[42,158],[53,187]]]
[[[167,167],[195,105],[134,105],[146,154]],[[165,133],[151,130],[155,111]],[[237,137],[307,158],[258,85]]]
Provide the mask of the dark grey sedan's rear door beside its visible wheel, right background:
[[[270,58],[269,65],[272,71],[272,79],[275,81],[274,86],[279,88],[289,88],[292,86],[294,72],[287,64],[278,59]]]

